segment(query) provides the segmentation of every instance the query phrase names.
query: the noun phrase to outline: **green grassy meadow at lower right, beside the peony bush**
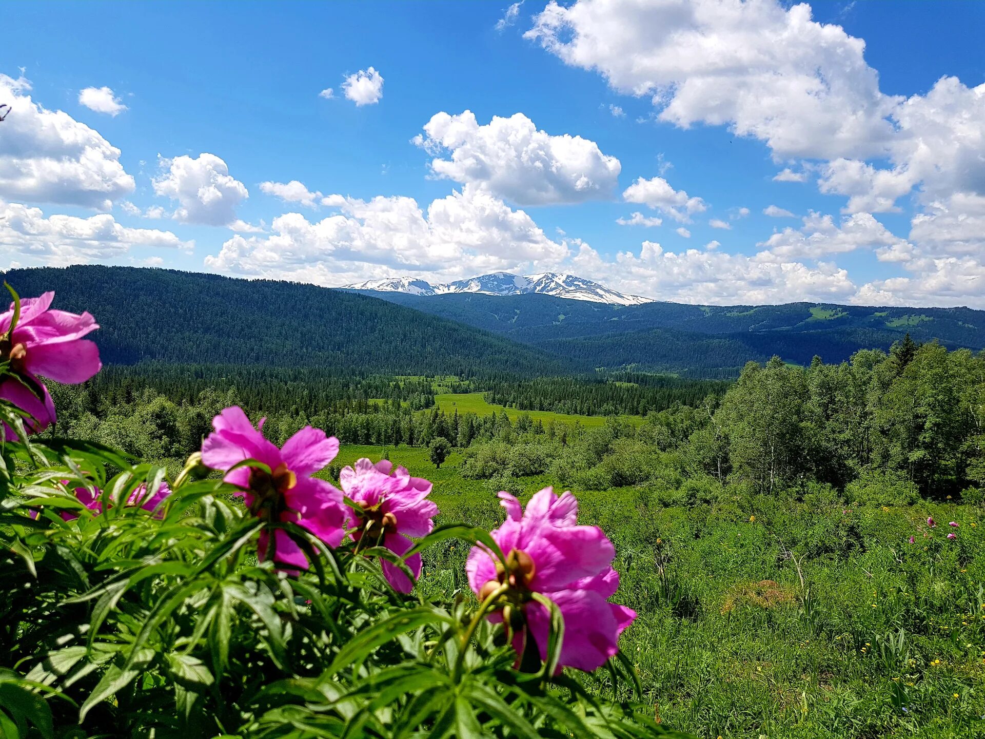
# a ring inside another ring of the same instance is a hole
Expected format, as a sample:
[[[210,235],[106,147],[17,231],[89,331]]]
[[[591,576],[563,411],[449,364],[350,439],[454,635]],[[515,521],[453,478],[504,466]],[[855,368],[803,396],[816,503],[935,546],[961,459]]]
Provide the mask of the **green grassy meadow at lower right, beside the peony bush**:
[[[348,445],[339,461],[382,453]],[[434,483],[438,523],[503,520],[489,485],[459,476],[459,452],[440,469],[424,448],[388,453]],[[522,498],[552,482],[521,478]],[[666,507],[644,488],[575,491],[580,522],[616,546],[614,600],[638,613],[622,646],[650,710],[702,739],[985,736],[979,506],[725,490]],[[468,592],[468,550],[450,541],[428,550],[422,591]]]

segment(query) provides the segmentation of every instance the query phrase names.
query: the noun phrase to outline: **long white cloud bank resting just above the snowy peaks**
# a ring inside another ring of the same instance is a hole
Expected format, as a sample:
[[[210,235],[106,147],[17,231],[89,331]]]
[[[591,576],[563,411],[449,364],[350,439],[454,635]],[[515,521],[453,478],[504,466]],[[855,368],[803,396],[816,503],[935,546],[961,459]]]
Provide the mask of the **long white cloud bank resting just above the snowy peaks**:
[[[298,213],[274,219],[272,235],[233,236],[206,266],[222,272],[343,285],[405,273],[472,277],[517,264],[556,265],[567,246],[548,238],[523,211],[483,188],[466,186],[431,202],[360,200],[329,195],[339,213],[310,222]]]

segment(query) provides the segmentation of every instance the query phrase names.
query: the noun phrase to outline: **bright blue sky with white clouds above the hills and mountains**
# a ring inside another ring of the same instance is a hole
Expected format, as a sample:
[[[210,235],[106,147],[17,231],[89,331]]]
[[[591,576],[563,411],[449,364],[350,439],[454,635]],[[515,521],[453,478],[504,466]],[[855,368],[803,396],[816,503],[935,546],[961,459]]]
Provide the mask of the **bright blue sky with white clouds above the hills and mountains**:
[[[0,267],[985,307],[985,6],[514,7],[6,3]]]

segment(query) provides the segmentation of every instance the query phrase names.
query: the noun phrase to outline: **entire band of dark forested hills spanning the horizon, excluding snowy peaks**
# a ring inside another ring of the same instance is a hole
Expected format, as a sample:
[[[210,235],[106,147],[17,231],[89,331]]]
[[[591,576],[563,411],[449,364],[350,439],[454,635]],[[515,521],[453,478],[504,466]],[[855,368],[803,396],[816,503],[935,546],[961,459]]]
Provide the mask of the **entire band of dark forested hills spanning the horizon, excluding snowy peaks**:
[[[537,292],[356,293],[96,265],[16,269],[4,277],[23,296],[53,290],[55,307],[92,312],[101,326],[94,338],[103,362],[116,365],[310,368],[343,376],[638,370],[730,378],[747,362],[773,355],[798,365],[816,355],[841,362],[860,349],[887,350],[907,333],[949,349],[985,349],[985,311],[966,307],[624,305]]]

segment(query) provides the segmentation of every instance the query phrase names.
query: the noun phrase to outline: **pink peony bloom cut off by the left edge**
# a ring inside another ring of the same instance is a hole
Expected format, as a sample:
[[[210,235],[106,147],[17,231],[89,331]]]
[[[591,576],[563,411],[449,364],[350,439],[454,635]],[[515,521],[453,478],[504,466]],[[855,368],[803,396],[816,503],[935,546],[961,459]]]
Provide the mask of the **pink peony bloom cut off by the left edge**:
[[[0,314],[0,361],[10,362],[17,377],[0,379],[0,398],[8,400],[33,418],[25,419],[29,434],[44,431],[55,422],[55,407],[40,374],[57,382],[85,382],[99,371],[99,348],[82,337],[99,328],[89,313],[76,315],[48,310],[54,293],[21,301],[21,316],[10,334],[14,305]],[[8,440],[17,438],[4,424]]]

